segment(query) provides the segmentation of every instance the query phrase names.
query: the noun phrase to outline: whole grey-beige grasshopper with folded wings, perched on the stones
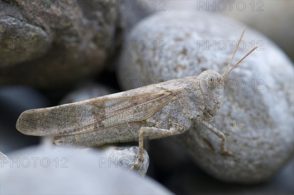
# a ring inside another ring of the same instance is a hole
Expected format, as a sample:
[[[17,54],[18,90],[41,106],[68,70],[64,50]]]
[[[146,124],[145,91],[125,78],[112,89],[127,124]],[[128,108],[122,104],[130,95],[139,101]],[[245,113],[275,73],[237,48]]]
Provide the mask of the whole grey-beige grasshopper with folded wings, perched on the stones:
[[[54,136],[61,146],[94,147],[103,144],[139,141],[139,158],[143,159],[143,139],[177,135],[188,130],[195,121],[221,138],[221,152],[230,155],[225,147],[225,135],[206,121],[219,112],[223,99],[223,80],[254,49],[229,71],[236,49],[221,75],[215,70],[199,76],[170,80],[165,85],[149,85],[90,100],[24,111],[16,128],[27,135]]]

